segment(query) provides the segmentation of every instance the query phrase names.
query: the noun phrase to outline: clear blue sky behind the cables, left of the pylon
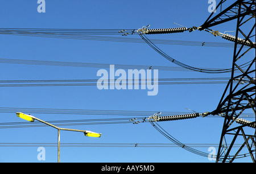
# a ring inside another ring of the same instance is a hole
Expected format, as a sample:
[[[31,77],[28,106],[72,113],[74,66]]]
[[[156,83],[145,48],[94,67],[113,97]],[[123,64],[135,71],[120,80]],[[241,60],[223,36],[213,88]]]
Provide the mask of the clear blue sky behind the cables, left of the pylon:
[[[46,12],[38,13],[34,1],[0,1],[0,28],[70,28],[70,29],[138,29],[200,26],[210,15],[208,1],[68,1],[46,0]],[[217,1],[218,2],[218,1]],[[174,24],[177,23],[177,24]],[[233,31],[236,22],[213,27],[213,30]],[[232,33],[231,33],[232,34]],[[234,34],[234,33],[233,33]],[[127,37],[140,39],[138,35]],[[208,32],[194,31],[178,34],[147,35],[148,39],[184,40],[193,42],[230,43]],[[20,35],[0,35],[0,59],[69,61],[128,65],[159,65],[178,67],[164,59],[146,43],[125,43],[99,40],[40,38]],[[191,45],[158,44],[174,59],[193,67],[231,68],[233,48]],[[97,80],[101,68],[64,67],[47,65],[7,64],[0,62],[0,80]],[[109,72],[108,68],[105,68]],[[127,71],[127,69],[125,70]],[[159,78],[230,77],[229,73],[206,74],[191,71],[161,71]],[[26,86],[0,87],[0,107],[77,110],[122,110],[199,113],[213,111],[226,84],[159,85],[156,96],[147,96],[146,89],[99,90],[92,86]],[[18,110],[17,110],[18,111]],[[138,117],[127,115],[44,114],[26,113],[44,121]],[[149,117],[150,115],[143,115]],[[139,116],[142,117],[142,116]],[[0,123],[26,122],[15,111],[0,112]],[[36,122],[35,122],[36,123]],[[160,122],[169,134],[184,144],[203,144],[195,147],[208,152],[220,141],[223,119],[194,118],[183,121]],[[101,138],[90,138],[80,132],[61,131],[61,143],[96,143],[92,147],[60,148],[61,162],[205,162],[200,155],[180,147],[135,147],[138,143],[172,143],[150,123],[97,124],[62,126],[70,129],[100,132]],[[1,162],[56,162],[57,130],[52,127],[22,127],[0,129]],[[42,143],[33,147],[3,146],[3,143]],[[130,143],[131,146],[102,147],[100,144]],[[188,145],[189,146],[189,145]],[[46,160],[38,160],[38,147],[46,150]],[[250,158],[247,158],[250,161]]]

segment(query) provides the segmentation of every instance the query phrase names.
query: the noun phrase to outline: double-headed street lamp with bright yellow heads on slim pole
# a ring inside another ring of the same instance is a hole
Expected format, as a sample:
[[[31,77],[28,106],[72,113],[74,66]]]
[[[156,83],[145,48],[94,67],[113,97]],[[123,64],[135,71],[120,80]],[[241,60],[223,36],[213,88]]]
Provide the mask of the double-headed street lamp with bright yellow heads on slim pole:
[[[43,121],[42,119],[36,118],[36,117],[34,117],[32,115],[27,115],[27,114],[23,114],[23,113],[16,113],[16,115],[19,118],[25,119],[25,120],[30,121],[30,122],[34,122],[35,119],[36,119],[37,121],[42,122],[42,123],[44,123],[44,124],[46,124],[48,126],[54,127],[55,129],[58,130],[58,163],[60,162],[60,130],[84,132],[85,136],[101,137],[101,134],[96,133],[96,132],[92,132],[92,131],[60,128],[60,127],[54,126],[54,125],[52,125],[50,123],[47,123],[47,122]]]

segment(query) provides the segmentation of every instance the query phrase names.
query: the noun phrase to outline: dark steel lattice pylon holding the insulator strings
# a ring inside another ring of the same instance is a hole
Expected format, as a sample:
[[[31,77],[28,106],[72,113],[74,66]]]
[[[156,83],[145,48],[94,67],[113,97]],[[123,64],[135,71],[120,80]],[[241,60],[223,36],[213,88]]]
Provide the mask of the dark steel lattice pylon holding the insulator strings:
[[[231,77],[216,110],[211,113],[222,115],[225,118],[216,162],[232,162],[234,159],[250,156],[255,163],[255,118],[253,121],[240,119],[244,122],[238,122],[242,113],[256,114],[255,0],[239,0],[222,10],[222,6],[226,5],[225,2],[226,0],[222,0],[216,7],[216,10],[221,9],[221,12],[210,14],[206,22],[199,28],[199,30],[205,30],[230,20],[237,22],[236,37],[233,38],[234,53]],[[238,48],[238,44],[241,47]],[[245,63],[247,66],[243,67]],[[236,71],[238,73],[234,73],[235,70],[238,70]],[[233,83],[234,81],[238,81],[238,83]],[[236,140],[243,142],[238,150],[232,149]]]

